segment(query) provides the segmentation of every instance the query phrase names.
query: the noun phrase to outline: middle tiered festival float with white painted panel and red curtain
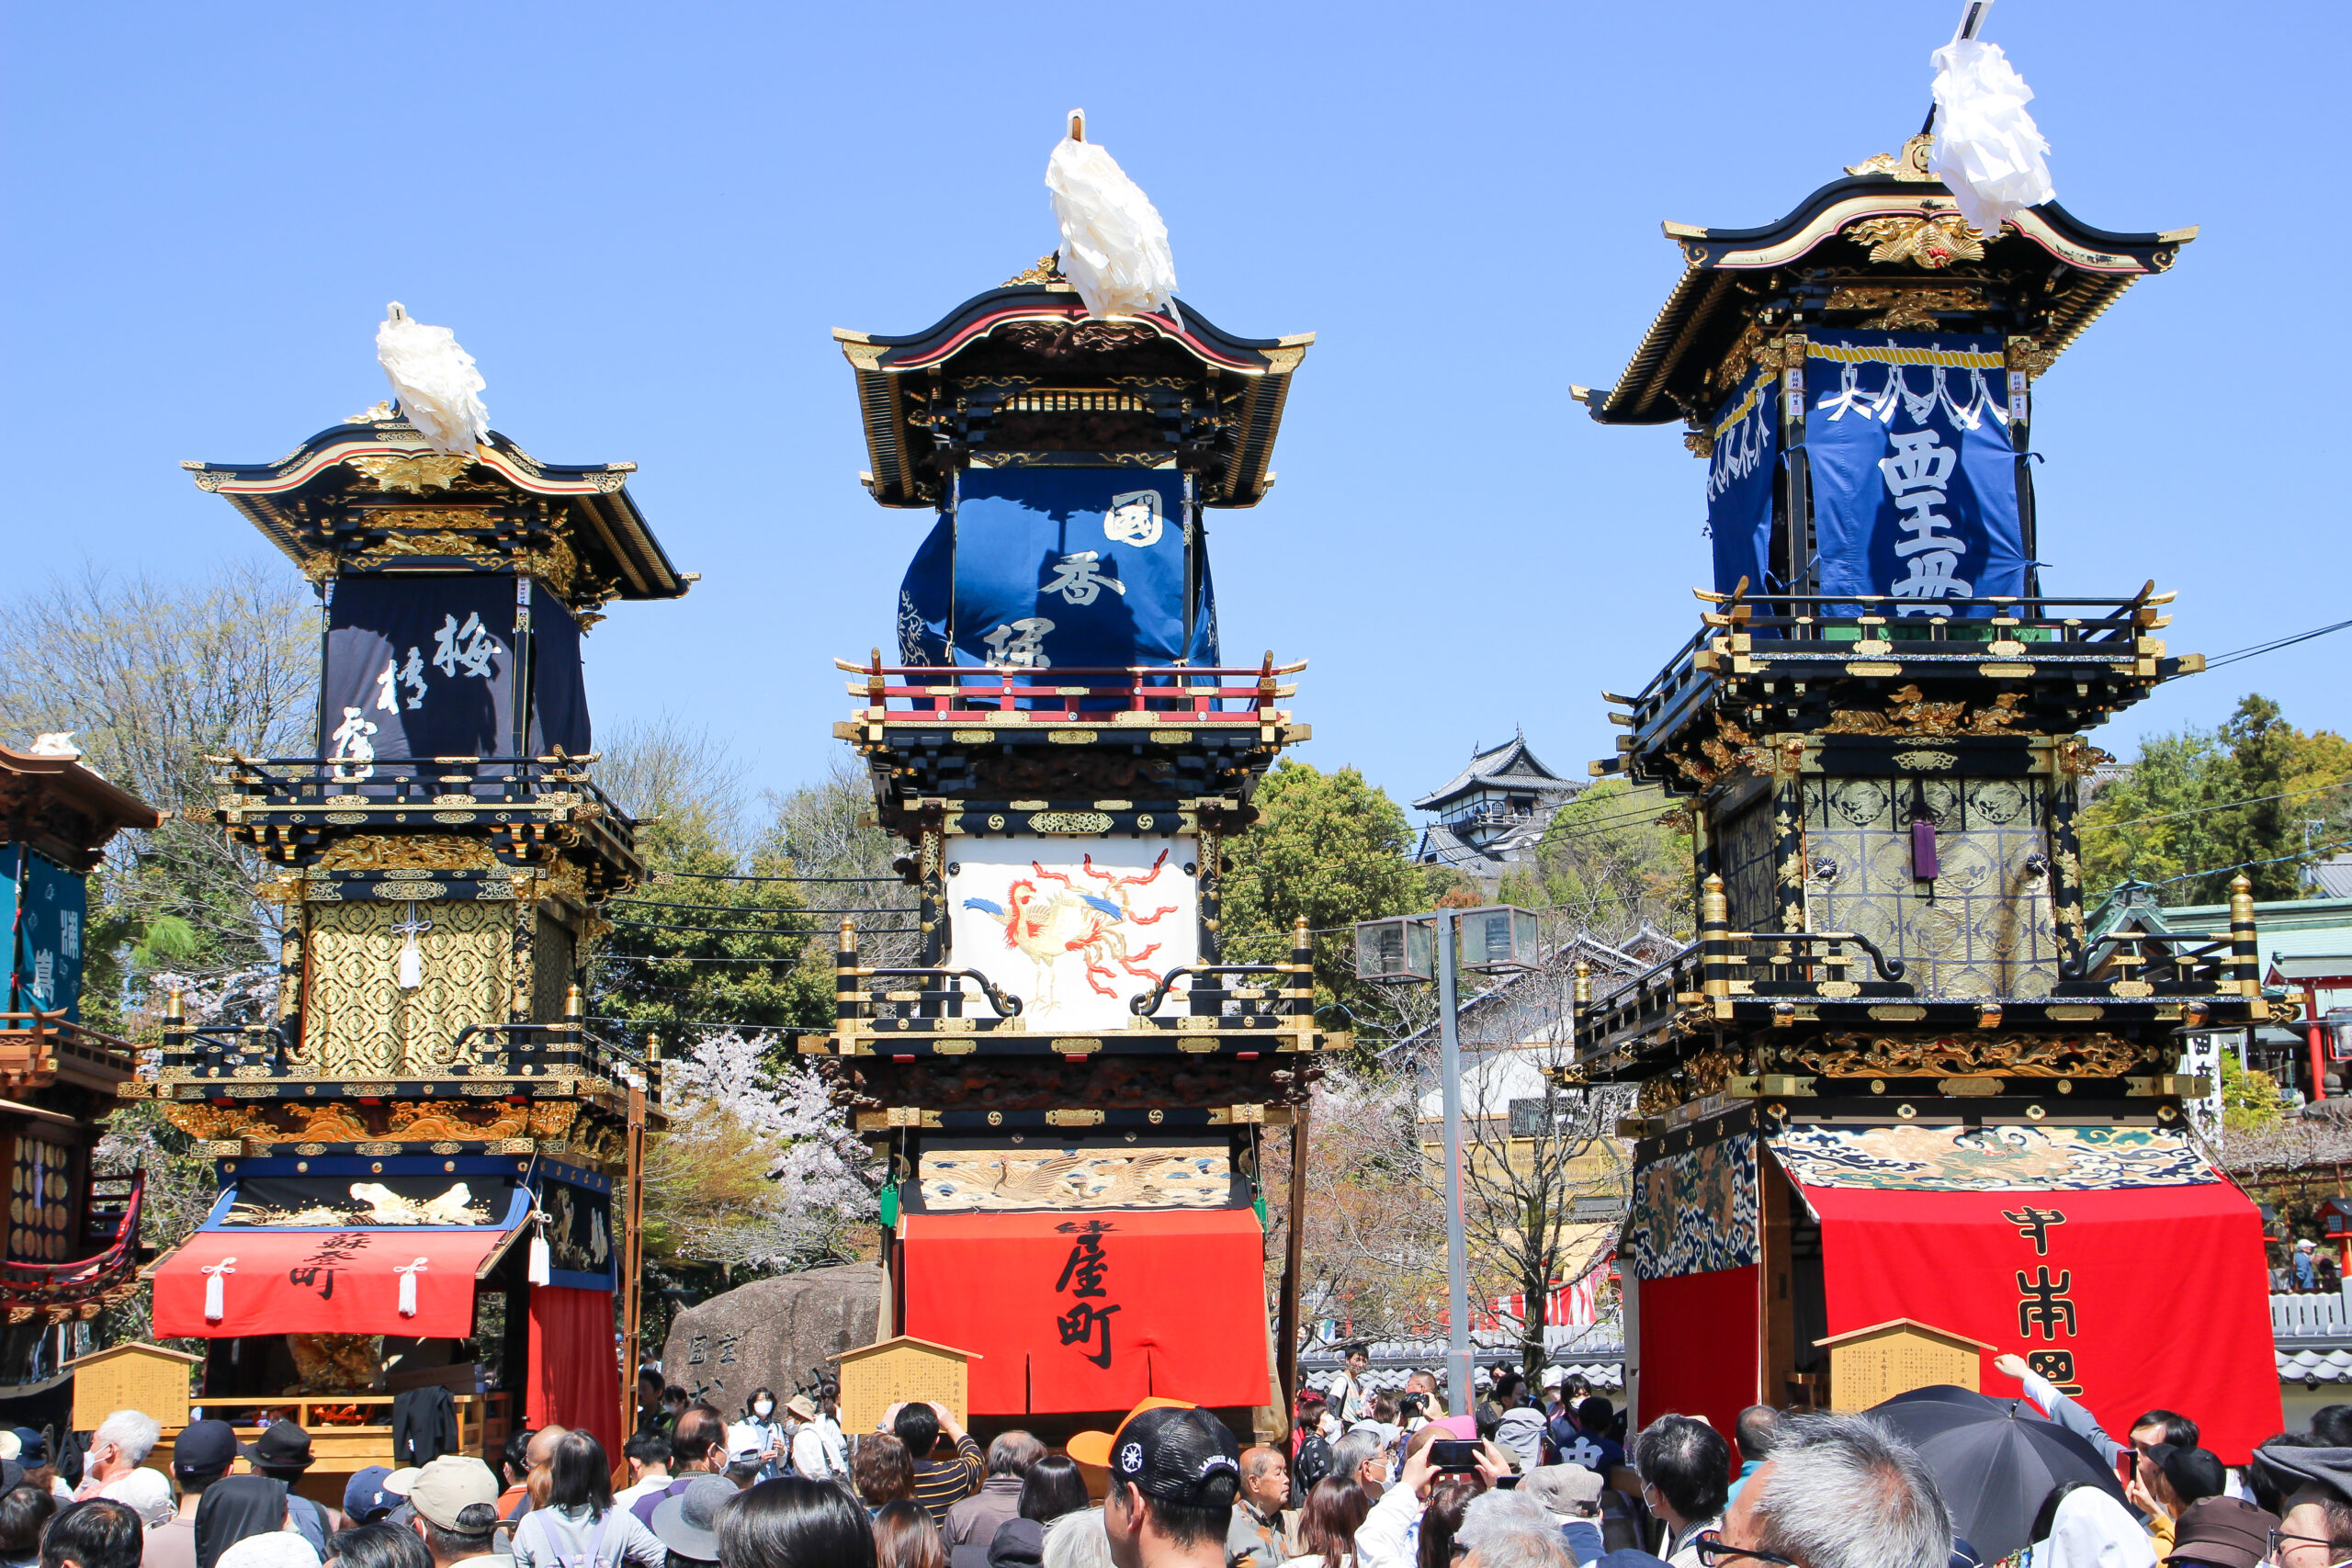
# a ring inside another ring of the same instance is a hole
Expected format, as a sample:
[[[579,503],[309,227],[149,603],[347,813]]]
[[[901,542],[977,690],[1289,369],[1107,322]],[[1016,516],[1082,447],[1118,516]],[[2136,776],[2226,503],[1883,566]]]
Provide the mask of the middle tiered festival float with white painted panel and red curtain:
[[[1301,665],[1221,658],[1207,522],[1272,484],[1312,339],[1096,320],[1051,259],[913,336],[837,339],[866,487],[934,512],[898,663],[844,663],[835,726],[908,844],[920,966],[870,969],[844,926],[840,1025],[802,1046],[891,1161],[889,1321],[981,1354],[981,1425],[1183,1389],[1279,1427],[1258,1135],[1331,1039],[1305,933],[1235,961],[1218,877],[1308,726]]]

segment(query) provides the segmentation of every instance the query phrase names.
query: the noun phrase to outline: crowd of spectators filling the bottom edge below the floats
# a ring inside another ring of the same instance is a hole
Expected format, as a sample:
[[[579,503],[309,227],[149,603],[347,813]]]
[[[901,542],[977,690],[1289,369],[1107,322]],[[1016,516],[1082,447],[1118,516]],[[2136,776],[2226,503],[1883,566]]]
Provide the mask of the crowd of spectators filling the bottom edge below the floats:
[[[2352,1563],[2352,1406],[2232,1469],[2187,1415],[2117,1441],[2020,1359],[1994,1366],[2114,1465],[2016,1505],[2016,1568]],[[115,1410],[59,1474],[42,1434],[0,1432],[0,1568],[1966,1568],[1955,1519],[1985,1519],[1867,1413],[1628,1429],[1609,1396],[1508,1366],[1449,1413],[1428,1373],[1374,1392],[1359,1352],[1258,1446],[1176,1399],[1054,1453],[1018,1429],[983,1448],[936,1403],[844,1434],[830,1387],[729,1418],[656,1380],[626,1486],[595,1436],[539,1427],[496,1465],[367,1467],[336,1509],[299,1490],[292,1422],[252,1443],[191,1422],[169,1476],[158,1439]]]

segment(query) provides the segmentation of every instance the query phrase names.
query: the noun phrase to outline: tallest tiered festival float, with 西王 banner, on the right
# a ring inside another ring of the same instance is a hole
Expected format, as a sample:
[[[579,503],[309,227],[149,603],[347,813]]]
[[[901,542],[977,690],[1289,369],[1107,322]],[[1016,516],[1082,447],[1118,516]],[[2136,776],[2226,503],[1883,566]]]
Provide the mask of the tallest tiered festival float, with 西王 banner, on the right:
[[[2042,374],[2194,230],[2046,202],[1983,235],[1926,153],[1668,223],[1682,280],[1578,388],[1689,425],[1715,538],[1700,628],[1592,769],[1698,844],[1698,940],[1578,1030],[1583,1079],[1642,1084],[1637,1413],[1851,1408],[1825,1340],[1912,1319],[1987,1345],[1985,1392],[2018,1352],[2110,1427],[2194,1408],[2237,1462],[2279,1425],[2260,1225],[2178,1060],[2263,1016],[2251,905],[2223,943],[2093,943],[2074,842],[2086,731],[2201,661],[2154,585],[2042,592],[2027,463]],[[2194,1302],[2147,1288],[2150,1237]],[[1693,1324],[1719,1354],[1677,1354]]]

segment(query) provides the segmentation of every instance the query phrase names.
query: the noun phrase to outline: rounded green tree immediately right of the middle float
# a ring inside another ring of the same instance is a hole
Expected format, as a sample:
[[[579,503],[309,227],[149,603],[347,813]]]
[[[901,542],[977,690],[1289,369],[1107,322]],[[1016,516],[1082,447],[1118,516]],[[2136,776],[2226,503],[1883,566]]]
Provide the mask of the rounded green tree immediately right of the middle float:
[[[1258,785],[1256,806],[1258,823],[1225,846],[1225,961],[1287,961],[1303,914],[1317,931],[1317,1006],[1359,1001],[1348,926],[1421,907],[1404,809],[1355,769],[1324,773],[1287,757]]]

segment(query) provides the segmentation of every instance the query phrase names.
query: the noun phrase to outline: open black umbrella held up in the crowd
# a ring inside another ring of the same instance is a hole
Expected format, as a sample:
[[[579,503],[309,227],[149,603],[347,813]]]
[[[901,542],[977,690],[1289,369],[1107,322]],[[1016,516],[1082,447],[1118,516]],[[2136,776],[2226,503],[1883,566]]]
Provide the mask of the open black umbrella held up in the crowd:
[[[1987,1563],[2027,1544],[2051,1488],[2082,1481],[2124,1502],[2124,1486],[2098,1448],[2042,1420],[2023,1399],[1936,1385],[1896,1394],[1870,1415],[1919,1450],[1952,1512],[1952,1530]]]

